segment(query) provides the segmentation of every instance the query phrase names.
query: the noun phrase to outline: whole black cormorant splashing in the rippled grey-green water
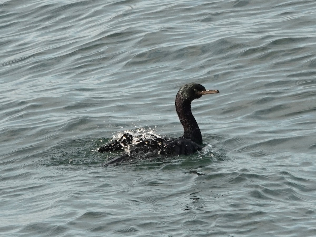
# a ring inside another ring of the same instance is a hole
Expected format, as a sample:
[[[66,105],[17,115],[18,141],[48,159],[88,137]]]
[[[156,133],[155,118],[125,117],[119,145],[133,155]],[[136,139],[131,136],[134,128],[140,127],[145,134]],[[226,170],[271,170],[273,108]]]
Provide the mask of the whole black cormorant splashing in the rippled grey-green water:
[[[190,155],[202,149],[202,135],[197,121],[191,112],[192,100],[201,98],[204,94],[216,94],[218,90],[206,90],[200,84],[183,85],[176,95],[176,111],[184,129],[184,134],[179,138],[162,138],[151,135],[150,137],[133,137],[126,133],[121,138],[114,140],[99,149],[99,152],[109,152],[128,149],[128,153],[115,157],[107,164],[120,161],[133,160],[135,157],[146,158],[152,155]],[[135,144],[133,144],[135,143]]]

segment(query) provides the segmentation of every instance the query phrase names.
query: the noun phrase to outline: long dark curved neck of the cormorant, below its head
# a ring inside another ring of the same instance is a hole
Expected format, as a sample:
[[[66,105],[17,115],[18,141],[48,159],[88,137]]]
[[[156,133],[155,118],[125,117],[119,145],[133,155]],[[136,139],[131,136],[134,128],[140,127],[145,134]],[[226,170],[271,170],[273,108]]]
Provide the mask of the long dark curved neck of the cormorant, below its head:
[[[202,135],[197,125],[197,121],[191,112],[191,101],[183,101],[177,95],[176,111],[184,129],[184,134],[182,137],[190,139],[191,141],[201,145],[203,143]]]

